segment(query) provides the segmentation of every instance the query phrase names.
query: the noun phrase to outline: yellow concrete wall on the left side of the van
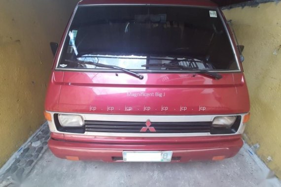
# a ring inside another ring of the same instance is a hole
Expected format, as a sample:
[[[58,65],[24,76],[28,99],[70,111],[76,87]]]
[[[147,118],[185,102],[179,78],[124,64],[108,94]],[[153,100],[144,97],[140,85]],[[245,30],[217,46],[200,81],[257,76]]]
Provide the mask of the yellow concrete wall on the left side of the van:
[[[0,0],[0,166],[44,122],[53,56],[75,0]]]

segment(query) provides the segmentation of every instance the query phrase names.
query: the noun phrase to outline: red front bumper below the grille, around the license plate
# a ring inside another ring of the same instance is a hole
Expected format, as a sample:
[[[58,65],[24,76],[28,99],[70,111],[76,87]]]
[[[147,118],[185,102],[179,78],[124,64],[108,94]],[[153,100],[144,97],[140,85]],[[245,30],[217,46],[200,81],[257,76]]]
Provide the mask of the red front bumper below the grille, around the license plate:
[[[173,151],[172,161],[211,160],[235,156],[240,134],[195,137],[106,137],[51,133],[48,146],[60,158],[123,161],[123,151]]]

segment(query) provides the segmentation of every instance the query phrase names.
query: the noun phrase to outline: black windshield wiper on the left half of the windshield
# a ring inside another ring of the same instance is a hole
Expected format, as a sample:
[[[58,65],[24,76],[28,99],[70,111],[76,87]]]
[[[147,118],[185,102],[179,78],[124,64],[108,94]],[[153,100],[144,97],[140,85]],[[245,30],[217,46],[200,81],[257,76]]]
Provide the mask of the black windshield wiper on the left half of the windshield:
[[[125,69],[116,65],[107,65],[104,63],[97,63],[97,62],[90,62],[90,61],[79,61],[79,60],[65,60],[66,62],[70,62],[70,63],[78,63],[78,64],[90,64],[90,65],[95,65],[97,67],[105,67],[105,68],[109,68],[109,69],[118,69],[121,71],[124,71],[125,73],[132,75],[134,77],[139,78],[140,80],[143,79],[143,75],[141,75],[140,73],[136,73],[134,71],[131,71],[129,69]]]

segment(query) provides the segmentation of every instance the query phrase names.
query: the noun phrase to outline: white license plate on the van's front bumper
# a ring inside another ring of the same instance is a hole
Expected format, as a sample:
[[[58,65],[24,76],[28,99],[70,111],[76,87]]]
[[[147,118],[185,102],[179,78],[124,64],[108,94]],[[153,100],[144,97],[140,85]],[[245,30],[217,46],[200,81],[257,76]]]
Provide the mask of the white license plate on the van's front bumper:
[[[123,151],[124,162],[170,162],[172,151]]]

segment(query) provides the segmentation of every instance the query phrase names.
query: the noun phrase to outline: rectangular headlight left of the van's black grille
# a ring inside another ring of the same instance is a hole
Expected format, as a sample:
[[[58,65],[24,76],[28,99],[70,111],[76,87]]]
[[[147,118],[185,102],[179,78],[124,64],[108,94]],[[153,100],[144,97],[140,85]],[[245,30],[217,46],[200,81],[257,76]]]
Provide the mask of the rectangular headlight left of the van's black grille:
[[[59,114],[59,122],[65,127],[80,127],[83,126],[83,119],[79,115]]]

